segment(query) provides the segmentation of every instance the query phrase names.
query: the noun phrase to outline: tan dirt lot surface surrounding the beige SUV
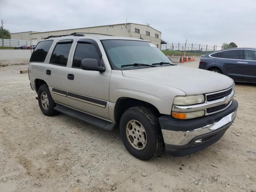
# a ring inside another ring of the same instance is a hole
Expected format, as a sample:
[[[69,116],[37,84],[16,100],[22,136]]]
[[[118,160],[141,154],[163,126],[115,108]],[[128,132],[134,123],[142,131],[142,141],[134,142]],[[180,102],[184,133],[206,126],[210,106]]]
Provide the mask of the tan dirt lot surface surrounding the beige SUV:
[[[256,85],[236,84],[236,120],[212,146],[141,161],[118,130],[44,116],[27,68],[0,68],[0,192],[256,192]]]

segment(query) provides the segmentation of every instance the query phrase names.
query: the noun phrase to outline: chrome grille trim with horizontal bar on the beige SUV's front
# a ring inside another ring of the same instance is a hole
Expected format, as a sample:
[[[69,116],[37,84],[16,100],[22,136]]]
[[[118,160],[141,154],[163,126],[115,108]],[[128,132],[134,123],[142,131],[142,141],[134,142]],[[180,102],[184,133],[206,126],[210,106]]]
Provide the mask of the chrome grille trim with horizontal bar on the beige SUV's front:
[[[205,110],[205,115],[211,115],[211,114],[220,112],[220,111],[225,110],[226,108],[228,108],[228,106],[230,106],[230,104],[232,103],[232,100],[234,98],[234,94],[235,94],[235,92],[234,92],[234,89],[233,89],[232,92],[228,96],[226,96],[222,99],[219,99],[219,100],[215,100],[215,101],[211,101],[211,102],[206,101],[206,102],[201,103],[201,104],[190,105],[190,106],[174,105],[174,106],[172,106],[172,111],[174,111],[174,112],[193,112],[193,111]],[[206,111],[208,108],[212,108],[212,107],[216,107],[216,106],[223,105],[223,104],[228,104],[228,103],[230,103],[230,104],[222,110],[212,112],[212,113],[207,113],[207,111]]]

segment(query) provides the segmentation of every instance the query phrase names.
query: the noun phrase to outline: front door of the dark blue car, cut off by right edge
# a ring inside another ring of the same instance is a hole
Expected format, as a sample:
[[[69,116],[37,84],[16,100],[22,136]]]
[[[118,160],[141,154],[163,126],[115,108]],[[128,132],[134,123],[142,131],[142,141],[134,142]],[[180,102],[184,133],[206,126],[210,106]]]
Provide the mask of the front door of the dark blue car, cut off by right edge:
[[[244,49],[242,71],[244,81],[256,82],[256,50]]]

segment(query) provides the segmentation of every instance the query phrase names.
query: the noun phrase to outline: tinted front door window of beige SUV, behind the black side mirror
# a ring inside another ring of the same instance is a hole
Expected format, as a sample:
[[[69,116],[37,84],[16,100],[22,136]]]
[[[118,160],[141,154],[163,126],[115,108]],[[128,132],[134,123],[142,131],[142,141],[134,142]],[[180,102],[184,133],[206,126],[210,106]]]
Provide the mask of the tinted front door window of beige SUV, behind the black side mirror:
[[[83,59],[97,59],[100,61],[100,57],[94,45],[89,43],[78,42],[73,59],[73,68],[80,68]]]

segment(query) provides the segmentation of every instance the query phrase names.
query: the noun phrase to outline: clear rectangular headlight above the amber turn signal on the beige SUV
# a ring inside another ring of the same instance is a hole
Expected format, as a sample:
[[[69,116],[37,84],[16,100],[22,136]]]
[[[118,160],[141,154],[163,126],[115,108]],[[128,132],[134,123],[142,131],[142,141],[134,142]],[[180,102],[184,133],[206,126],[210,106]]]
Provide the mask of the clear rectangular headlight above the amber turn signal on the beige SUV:
[[[174,98],[174,105],[193,105],[204,102],[204,95],[192,95],[192,96],[176,96]]]

